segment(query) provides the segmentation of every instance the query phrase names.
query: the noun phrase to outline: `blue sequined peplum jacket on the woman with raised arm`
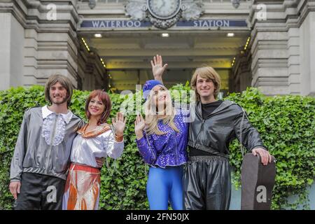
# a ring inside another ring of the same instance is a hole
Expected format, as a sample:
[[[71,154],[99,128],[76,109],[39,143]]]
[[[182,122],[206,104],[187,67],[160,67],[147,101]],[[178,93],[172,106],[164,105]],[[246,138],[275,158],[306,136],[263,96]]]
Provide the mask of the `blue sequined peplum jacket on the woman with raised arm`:
[[[179,132],[158,120],[158,128],[166,134],[147,135],[144,132],[144,137],[136,140],[139,152],[148,165],[165,168],[183,165],[188,161],[188,116],[188,110],[176,109],[174,123]]]

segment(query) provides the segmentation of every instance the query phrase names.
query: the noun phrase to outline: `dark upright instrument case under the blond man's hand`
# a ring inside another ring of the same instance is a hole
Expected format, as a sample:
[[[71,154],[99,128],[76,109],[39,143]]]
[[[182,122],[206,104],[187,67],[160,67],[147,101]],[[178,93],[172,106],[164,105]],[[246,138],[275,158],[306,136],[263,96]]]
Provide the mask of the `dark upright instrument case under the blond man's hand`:
[[[262,165],[260,156],[247,153],[241,165],[241,210],[269,210],[276,177],[276,163]]]

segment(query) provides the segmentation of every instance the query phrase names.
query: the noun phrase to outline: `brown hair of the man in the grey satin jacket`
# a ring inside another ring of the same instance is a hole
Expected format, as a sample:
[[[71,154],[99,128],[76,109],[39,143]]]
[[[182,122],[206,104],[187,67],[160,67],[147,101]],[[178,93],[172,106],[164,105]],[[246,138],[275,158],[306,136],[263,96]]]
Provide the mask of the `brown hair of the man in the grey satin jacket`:
[[[48,78],[48,81],[45,85],[45,100],[48,101],[50,104],[52,104],[49,90],[50,90],[50,87],[52,85],[55,85],[56,83],[60,83],[60,85],[66,88],[66,106],[69,106],[71,103],[73,85],[71,83],[71,80],[68,77],[62,76],[61,74],[55,74]]]

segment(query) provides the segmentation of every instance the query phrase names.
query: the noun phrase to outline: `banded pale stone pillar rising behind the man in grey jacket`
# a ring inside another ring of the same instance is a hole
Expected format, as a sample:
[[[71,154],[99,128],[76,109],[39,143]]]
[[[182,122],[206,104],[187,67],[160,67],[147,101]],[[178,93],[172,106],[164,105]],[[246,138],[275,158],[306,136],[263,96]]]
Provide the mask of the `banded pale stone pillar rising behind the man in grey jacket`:
[[[78,87],[77,1],[24,2],[28,8],[25,24],[28,45],[25,45],[27,55],[23,75],[31,84],[36,80],[37,84],[43,85],[50,75],[61,73]]]

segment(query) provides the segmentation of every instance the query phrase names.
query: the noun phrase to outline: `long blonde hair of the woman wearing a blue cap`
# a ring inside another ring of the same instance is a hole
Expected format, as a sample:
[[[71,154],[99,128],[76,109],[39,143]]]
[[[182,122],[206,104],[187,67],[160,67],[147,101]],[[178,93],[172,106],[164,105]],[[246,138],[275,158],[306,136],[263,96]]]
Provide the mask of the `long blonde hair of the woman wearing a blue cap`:
[[[169,91],[167,88],[163,85],[159,85],[162,87],[164,90],[167,91],[168,94],[168,102],[166,105],[166,116],[165,118],[162,118],[164,124],[168,124],[169,127],[172,128],[172,130],[179,132],[179,129],[176,127],[174,123],[174,118],[175,118],[175,109],[172,106],[172,100],[171,100],[171,95],[169,94]],[[146,100],[146,103],[144,104],[145,106],[145,116],[146,116],[146,134],[158,134],[162,135],[165,134],[165,132],[162,132],[158,128],[158,115],[157,115],[157,105],[155,102],[153,102],[153,94],[154,91],[151,90],[148,99]]]

